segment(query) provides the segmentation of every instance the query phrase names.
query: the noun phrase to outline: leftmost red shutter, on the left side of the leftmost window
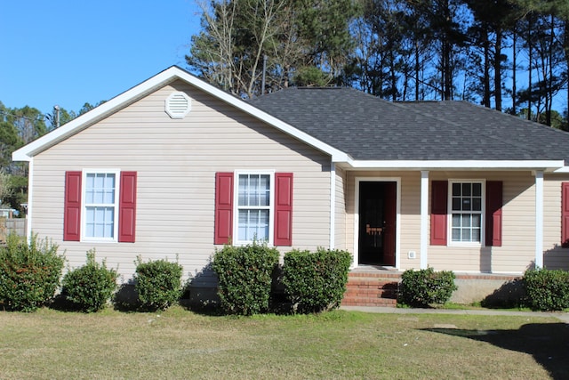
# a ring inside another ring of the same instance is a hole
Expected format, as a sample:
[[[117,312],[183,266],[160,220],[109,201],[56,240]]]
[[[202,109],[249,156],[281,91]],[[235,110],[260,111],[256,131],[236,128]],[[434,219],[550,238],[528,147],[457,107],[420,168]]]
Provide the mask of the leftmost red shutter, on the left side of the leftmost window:
[[[81,172],[65,173],[63,240],[81,239]]]

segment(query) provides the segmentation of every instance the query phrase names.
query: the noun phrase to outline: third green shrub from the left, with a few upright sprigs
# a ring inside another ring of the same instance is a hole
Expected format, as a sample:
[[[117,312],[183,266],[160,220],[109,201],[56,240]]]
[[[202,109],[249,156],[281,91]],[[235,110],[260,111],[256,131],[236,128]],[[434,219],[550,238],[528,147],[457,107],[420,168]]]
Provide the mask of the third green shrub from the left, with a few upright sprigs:
[[[167,260],[142,263],[140,257],[135,263],[134,289],[141,308],[166,310],[180,300],[183,269],[179,263]]]

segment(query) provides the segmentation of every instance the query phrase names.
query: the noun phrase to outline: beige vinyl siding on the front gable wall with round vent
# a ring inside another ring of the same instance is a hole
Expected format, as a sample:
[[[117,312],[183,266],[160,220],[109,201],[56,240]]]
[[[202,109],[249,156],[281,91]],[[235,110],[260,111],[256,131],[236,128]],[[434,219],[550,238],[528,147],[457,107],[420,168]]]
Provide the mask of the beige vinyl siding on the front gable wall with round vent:
[[[164,112],[172,91],[192,99],[183,119]],[[327,247],[329,165],[325,154],[177,82],[34,158],[32,229],[57,242],[72,267],[96,246],[97,256],[118,266],[124,280],[131,278],[137,255],[178,255],[185,275],[195,275],[214,251],[215,173],[274,170],[294,174],[293,247]],[[136,242],[62,241],[65,172],[105,168],[138,173]]]

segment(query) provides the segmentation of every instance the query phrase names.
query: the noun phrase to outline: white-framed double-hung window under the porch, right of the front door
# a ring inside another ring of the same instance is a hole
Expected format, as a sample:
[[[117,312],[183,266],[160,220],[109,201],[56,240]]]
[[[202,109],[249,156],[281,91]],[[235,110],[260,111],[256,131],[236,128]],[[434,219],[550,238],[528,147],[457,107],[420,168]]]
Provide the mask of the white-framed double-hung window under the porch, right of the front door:
[[[483,231],[483,182],[450,182],[451,239],[480,244]]]

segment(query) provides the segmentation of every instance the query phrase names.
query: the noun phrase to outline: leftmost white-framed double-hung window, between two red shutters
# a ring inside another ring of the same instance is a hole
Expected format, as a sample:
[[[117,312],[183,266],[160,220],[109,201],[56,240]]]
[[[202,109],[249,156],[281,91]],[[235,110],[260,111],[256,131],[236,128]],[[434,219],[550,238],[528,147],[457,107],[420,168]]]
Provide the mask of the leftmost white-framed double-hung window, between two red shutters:
[[[116,241],[118,172],[84,173],[84,239]]]

